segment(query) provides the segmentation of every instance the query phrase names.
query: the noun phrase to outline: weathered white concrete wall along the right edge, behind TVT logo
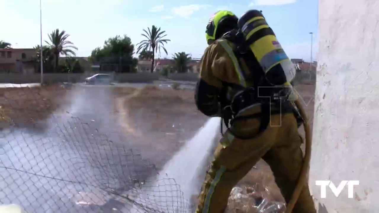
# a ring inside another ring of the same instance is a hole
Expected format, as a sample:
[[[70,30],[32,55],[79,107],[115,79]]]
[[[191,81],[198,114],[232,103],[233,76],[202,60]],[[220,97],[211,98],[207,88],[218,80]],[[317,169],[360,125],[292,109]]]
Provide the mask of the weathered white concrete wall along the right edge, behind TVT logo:
[[[379,1],[319,0],[309,185],[320,213],[379,212]],[[320,199],[315,180],[359,180]]]

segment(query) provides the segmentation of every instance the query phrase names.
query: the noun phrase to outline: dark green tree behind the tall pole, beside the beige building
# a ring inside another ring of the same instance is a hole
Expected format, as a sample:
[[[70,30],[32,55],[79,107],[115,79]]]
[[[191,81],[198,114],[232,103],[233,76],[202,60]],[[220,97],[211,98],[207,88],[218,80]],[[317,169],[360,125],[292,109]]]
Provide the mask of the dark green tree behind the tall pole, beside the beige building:
[[[36,62],[36,72],[41,72],[41,46],[37,45],[34,47],[36,50],[35,62]],[[53,72],[54,68],[54,55],[50,47],[42,46],[42,64],[44,66],[44,72]]]

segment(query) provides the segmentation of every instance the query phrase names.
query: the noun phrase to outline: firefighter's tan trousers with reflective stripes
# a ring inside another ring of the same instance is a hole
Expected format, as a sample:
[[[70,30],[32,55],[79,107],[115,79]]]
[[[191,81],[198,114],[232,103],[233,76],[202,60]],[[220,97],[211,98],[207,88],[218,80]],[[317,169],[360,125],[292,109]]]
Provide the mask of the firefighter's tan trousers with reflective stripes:
[[[224,212],[232,188],[261,158],[271,167],[285,201],[290,201],[303,163],[300,149],[303,141],[296,119],[293,113],[274,114],[266,130],[258,134],[259,126],[260,119],[233,123],[231,128],[236,135],[257,133],[251,139],[235,138],[229,130],[224,133],[202,185],[196,213]],[[302,189],[293,213],[316,213],[308,184]]]

